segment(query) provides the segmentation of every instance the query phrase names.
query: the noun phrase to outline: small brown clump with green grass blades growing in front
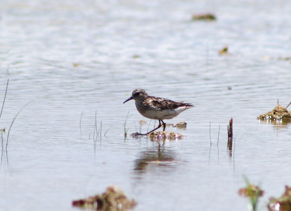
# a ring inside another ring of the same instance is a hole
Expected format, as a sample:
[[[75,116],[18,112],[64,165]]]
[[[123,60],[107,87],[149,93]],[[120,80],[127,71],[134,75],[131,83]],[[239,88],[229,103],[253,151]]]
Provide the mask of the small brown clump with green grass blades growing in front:
[[[249,198],[249,210],[255,211],[257,209],[259,198],[263,196],[264,191],[262,191],[257,185],[250,184],[247,178],[244,178],[244,180],[246,182],[246,187],[239,189],[238,194]]]

